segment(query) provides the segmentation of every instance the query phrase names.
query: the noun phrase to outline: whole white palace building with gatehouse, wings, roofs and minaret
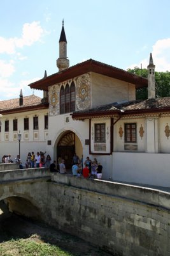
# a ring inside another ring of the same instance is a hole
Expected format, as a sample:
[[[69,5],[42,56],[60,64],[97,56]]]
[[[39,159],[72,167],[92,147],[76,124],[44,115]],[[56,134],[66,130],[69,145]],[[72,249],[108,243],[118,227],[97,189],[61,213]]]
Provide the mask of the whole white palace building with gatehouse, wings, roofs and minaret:
[[[0,102],[0,156],[18,150],[20,156],[39,150],[71,168],[73,154],[89,156],[103,165],[103,179],[170,185],[170,98],[155,98],[152,54],[148,79],[96,60],[69,67],[62,24],[59,72],[45,76],[31,88],[34,95]],[[148,99],[136,100],[136,88],[148,86]]]

